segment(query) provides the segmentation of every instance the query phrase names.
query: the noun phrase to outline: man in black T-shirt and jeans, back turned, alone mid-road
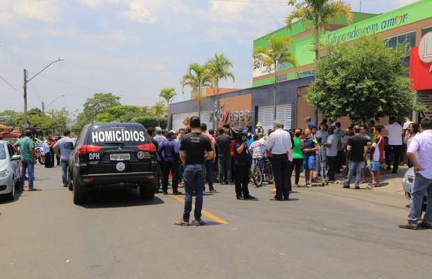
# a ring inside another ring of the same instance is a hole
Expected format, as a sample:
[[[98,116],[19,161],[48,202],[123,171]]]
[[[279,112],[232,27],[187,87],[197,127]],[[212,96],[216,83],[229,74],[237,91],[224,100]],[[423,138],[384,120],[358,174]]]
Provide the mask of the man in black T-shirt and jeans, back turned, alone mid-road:
[[[192,193],[195,193],[195,225],[206,223],[201,220],[203,208],[203,188],[206,181],[206,160],[213,158],[213,148],[209,138],[201,134],[199,117],[190,118],[191,133],[184,135],[180,142],[180,160],[185,166],[185,210],[183,218],[176,225],[188,226],[190,211],[192,211]]]

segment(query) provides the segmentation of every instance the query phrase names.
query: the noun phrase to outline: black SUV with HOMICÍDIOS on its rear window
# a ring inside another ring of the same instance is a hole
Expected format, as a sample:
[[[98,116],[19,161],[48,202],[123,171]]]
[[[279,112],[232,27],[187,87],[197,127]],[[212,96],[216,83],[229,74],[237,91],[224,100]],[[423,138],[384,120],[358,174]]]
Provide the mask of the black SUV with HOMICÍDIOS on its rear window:
[[[91,123],[75,146],[68,144],[73,149],[68,181],[75,204],[96,188],[139,188],[142,199],[155,196],[156,147],[141,124]]]

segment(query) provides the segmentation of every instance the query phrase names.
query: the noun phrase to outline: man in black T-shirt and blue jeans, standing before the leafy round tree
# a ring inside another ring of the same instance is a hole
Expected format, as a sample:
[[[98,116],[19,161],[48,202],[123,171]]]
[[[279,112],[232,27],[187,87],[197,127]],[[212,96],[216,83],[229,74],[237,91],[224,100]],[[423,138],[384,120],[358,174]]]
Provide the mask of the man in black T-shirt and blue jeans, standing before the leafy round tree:
[[[350,188],[350,182],[355,173],[355,189],[360,189],[360,174],[364,167],[364,156],[367,153],[367,139],[360,135],[360,127],[354,127],[352,137],[348,139],[346,150],[349,152],[348,179],[344,188]]]

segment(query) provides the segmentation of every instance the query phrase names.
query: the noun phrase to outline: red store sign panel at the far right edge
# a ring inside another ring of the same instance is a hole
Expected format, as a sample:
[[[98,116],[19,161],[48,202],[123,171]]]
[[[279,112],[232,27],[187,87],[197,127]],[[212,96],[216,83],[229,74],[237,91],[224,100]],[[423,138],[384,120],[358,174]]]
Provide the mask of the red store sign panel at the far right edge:
[[[432,32],[431,32],[432,33]],[[419,51],[420,47],[412,47],[410,50],[410,79],[411,87],[414,90],[432,89],[432,61],[422,61]]]

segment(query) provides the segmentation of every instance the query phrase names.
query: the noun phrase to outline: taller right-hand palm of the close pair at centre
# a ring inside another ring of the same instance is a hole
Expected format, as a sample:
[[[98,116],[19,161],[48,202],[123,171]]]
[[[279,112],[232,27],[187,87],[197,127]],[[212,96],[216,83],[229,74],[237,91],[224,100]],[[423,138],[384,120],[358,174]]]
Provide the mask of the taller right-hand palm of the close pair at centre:
[[[215,54],[213,58],[207,61],[208,70],[210,72],[210,80],[212,82],[213,92],[216,89],[216,110],[219,110],[219,80],[231,79],[235,81],[233,72],[233,62],[227,59],[224,54]],[[213,128],[216,128],[217,121],[213,121]]]

